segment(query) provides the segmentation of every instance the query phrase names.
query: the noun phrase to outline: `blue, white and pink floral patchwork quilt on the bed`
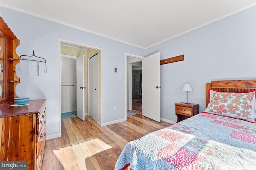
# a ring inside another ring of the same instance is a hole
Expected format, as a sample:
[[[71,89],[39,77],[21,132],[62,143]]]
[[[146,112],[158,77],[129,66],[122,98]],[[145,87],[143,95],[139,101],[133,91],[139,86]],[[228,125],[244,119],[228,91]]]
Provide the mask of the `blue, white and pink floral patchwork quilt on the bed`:
[[[256,169],[256,123],[200,113],[129,142],[115,170]]]

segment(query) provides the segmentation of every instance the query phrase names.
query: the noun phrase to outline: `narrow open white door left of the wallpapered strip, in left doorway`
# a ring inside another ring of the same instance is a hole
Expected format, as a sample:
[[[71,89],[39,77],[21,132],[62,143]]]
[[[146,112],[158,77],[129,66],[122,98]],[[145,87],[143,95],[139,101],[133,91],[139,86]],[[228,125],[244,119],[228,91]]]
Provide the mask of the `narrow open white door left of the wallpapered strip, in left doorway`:
[[[76,58],[76,111],[84,121],[84,55]]]

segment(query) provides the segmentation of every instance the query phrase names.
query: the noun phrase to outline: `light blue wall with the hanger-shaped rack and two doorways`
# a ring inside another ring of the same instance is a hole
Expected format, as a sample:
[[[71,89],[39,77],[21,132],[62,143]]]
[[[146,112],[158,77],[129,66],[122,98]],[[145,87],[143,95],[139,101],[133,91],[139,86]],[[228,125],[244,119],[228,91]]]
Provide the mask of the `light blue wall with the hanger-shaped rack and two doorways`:
[[[29,63],[27,76],[26,61],[22,61],[21,70],[17,70],[20,84],[16,88],[19,97],[47,99],[47,135],[60,133],[60,39],[102,49],[102,123],[125,118],[125,53],[144,56],[144,49],[8,8],[0,7],[0,11],[1,17],[20,39],[16,53],[32,55],[35,50],[37,56],[47,61],[47,73],[40,65],[39,76],[33,62]],[[114,68],[118,68],[121,78]],[[113,107],[117,107],[115,112]]]

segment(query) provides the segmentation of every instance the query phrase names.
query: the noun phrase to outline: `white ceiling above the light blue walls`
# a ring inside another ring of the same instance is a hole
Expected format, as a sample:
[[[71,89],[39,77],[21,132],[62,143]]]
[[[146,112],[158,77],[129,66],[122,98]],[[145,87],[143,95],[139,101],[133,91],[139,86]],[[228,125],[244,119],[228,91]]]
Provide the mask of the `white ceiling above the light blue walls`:
[[[256,0],[0,0],[0,5],[146,49]]]

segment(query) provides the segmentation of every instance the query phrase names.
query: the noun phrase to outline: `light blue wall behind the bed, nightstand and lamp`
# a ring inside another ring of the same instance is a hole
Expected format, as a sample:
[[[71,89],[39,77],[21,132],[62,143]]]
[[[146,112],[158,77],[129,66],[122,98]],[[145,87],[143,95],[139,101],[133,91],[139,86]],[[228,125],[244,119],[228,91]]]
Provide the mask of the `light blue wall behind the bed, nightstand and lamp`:
[[[185,60],[160,66],[161,117],[176,121],[174,103],[189,102],[205,109],[205,84],[212,80],[256,79],[256,6],[146,49],[161,59],[185,55]]]

